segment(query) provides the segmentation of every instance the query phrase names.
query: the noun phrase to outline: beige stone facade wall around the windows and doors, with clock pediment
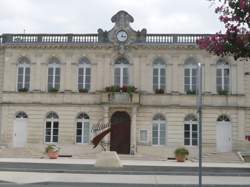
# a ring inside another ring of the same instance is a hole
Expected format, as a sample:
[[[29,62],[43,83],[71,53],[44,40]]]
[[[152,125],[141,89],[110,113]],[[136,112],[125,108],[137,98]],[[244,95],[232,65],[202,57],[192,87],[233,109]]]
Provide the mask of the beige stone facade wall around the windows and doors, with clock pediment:
[[[246,136],[250,136],[250,63],[235,62],[231,57],[223,59],[230,68],[229,93],[219,95],[216,89],[216,64],[219,57],[198,49],[195,42],[157,40],[158,43],[150,43],[150,35],[145,30],[136,32],[129,26],[131,18],[126,12],[114,16],[112,21],[116,25],[106,33],[106,42],[101,41],[102,36],[105,36],[105,31],[101,30],[98,31],[98,42],[92,43],[43,43],[39,39],[33,39],[35,42],[32,43],[27,42],[27,38],[26,42],[22,42],[14,40],[15,36],[9,39],[8,35],[3,35],[0,47],[1,143],[15,146],[14,121],[19,112],[24,112],[28,116],[24,146],[43,147],[46,145],[46,115],[53,111],[59,116],[57,143],[63,147],[65,154],[72,154],[69,153],[72,150],[75,154],[98,152],[100,147],[93,150],[90,143],[76,143],[77,115],[86,113],[91,128],[100,120],[109,122],[115,112],[125,111],[130,116],[130,153],[170,157],[175,148],[186,146],[195,154],[196,145],[184,145],[185,117],[196,115],[196,96],[187,95],[184,86],[185,61],[193,58],[203,66],[204,151],[218,151],[216,127],[221,115],[230,119],[231,150],[249,148],[250,142],[246,141]],[[128,33],[126,42],[117,41],[115,35],[119,30]],[[25,36],[19,37],[25,39]],[[70,38],[67,35],[65,37],[68,40]],[[146,39],[141,42],[143,37]],[[19,92],[17,87],[18,65],[22,57],[29,59],[30,86],[27,92]],[[59,60],[60,88],[58,92],[50,93],[48,65],[54,57]],[[91,66],[90,90],[87,93],[78,91],[78,65],[82,57],[88,59]],[[119,97],[123,96],[110,97],[110,93],[105,91],[106,87],[114,85],[115,61],[120,57],[128,60],[129,85],[138,90],[122,99]],[[164,61],[166,67],[164,94],[155,94],[153,89],[153,63],[156,59]],[[165,118],[165,142],[162,145],[153,145],[152,142],[153,119],[157,114]],[[141,130],[146,132],[145,141],[141,140]],[[89,140],[93,137],[90,131]],[[110,141],[109,138],[106,140]]]

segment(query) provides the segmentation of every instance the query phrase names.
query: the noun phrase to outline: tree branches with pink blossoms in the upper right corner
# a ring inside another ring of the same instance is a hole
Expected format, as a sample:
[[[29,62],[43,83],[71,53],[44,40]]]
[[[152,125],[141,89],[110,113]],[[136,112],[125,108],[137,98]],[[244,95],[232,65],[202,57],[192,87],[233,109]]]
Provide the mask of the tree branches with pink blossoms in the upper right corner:
[[[216,0],[209,0],[216,1]],[[219,0],[215,9],[225,26],[221,31],[197,41],[201,49],[218,56],[250,59],[250,0]]]

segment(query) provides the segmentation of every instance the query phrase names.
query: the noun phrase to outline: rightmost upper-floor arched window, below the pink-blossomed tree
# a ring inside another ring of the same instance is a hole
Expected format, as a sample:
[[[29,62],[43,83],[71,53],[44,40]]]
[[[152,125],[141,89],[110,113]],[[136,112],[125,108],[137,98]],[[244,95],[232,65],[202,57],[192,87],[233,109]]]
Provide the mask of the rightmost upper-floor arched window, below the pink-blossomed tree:
[[[217,62],[216,68],[216,88],[217,92],[229,91],[229,65],[223,60]]]

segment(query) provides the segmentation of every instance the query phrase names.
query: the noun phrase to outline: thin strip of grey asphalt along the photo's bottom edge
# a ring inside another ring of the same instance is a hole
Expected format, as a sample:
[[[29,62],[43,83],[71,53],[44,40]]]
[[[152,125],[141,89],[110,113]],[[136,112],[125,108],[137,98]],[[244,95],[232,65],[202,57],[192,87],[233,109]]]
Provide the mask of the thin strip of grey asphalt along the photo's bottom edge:
[[[0,187],[197,187],[197,185],[151,185],[151,184],[88,184],[88,183],[38,183],[11,184],[0,183]],[[203,185],[203,187],[249,187],[246,185]]]

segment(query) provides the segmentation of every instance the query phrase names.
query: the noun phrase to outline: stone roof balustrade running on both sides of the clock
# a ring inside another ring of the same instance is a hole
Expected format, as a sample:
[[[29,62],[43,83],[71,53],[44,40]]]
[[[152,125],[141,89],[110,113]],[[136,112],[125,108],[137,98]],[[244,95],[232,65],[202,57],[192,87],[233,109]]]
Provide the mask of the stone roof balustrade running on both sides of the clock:
[[[142,44],[195,44],[208,34],[147,34]],[[98,34],[2,34],[0,44],[105,43]]]

